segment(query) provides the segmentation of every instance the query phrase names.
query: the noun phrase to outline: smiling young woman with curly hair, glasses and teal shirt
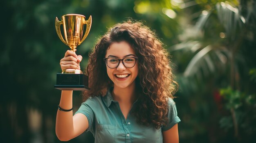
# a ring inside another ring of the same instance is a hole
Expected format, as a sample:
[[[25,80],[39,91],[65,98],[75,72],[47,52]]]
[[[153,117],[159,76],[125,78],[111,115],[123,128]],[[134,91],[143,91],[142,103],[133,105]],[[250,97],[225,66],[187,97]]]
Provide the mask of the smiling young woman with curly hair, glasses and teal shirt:
[[[61,69],[80,69],[82,56],[67,51]],[[73,116],[72,91],[62,91],[56,135],[68,141],[90,131],[95,143],[178,143],[173,94],[176,82],[168,53],[141,22],[116,24],[90,54],[91,90]],[[68,111],[70,109],[70,111]]]

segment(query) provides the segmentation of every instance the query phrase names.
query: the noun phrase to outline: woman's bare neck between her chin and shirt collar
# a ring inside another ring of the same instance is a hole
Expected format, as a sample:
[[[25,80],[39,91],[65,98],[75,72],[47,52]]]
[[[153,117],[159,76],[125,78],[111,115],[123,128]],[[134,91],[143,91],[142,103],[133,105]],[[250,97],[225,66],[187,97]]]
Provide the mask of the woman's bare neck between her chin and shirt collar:
[[[135,83],[127,88],[119,88],[114,85],[112,95],[114,100],[118,101],[119,103],[132,104],[135,101]]]

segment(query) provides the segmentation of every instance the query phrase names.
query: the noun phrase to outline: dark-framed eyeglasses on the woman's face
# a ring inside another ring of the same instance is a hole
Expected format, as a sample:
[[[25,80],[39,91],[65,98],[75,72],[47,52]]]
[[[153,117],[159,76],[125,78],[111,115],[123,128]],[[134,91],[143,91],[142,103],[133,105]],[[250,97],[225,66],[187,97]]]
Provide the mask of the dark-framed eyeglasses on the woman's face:
[[[120,61],[124,64],[126,68],[132,68],[135,66],[138,57],[125,57],[124,59],[117,59],[116,57],[107,57],[103,60],[109,68],[117,68]]]

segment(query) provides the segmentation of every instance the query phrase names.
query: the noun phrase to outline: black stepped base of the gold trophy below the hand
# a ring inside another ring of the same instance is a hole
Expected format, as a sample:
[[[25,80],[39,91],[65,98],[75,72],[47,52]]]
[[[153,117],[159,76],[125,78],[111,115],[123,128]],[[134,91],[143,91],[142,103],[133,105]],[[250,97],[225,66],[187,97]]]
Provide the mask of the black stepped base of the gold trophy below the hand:
[[[90,90],[87,75],[70,73],[57,73],[54,88],[59,90]]]

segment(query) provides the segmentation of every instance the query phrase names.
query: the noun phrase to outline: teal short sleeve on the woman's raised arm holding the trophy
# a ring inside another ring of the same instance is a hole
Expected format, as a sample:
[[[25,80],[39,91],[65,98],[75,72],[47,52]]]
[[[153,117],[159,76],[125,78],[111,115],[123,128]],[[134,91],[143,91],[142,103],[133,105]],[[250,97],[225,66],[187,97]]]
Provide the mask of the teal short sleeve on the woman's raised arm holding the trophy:
[[[90,99],[88,99],[90,100]],[[84,114],[87,119],[88,119],[88,123],[89,123],[89,128],[86,130],[86,132],[88,132],[88,130],[90,132],[92,132],[92,134],[94,134],[95,131],[95,127],[94,127],[94,113],[92,111],[92,108],[87,104],[87,101],[83,102],[80,106],[80,108],[75,112],[75,114],[77,113],[82,113]]]

